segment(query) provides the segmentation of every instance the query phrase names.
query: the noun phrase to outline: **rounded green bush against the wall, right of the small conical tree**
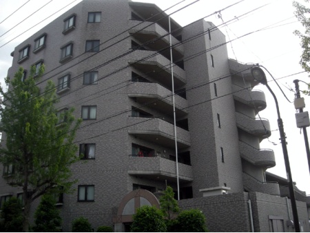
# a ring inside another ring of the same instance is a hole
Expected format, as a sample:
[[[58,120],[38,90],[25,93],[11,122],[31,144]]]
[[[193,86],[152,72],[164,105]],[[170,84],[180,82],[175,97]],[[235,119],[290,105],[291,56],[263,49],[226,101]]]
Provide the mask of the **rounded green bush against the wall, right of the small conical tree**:
[[[183,210],[176,221],[175,232],[208,232],[205,216],[200,210]]]

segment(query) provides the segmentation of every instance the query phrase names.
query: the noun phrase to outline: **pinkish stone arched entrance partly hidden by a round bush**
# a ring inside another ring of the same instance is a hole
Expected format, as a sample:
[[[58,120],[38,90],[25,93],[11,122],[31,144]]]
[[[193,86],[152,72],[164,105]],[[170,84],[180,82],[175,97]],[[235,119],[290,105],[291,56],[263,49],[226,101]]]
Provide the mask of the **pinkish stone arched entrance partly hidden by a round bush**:
[[[136,209],[143,205],[159,208],[158,199],[147,190],[134,190],[124,196],[118,205],[117,215],[113,218],[114,232],[126,232],[126,226],[132,223],[132,216],[136,213]]]

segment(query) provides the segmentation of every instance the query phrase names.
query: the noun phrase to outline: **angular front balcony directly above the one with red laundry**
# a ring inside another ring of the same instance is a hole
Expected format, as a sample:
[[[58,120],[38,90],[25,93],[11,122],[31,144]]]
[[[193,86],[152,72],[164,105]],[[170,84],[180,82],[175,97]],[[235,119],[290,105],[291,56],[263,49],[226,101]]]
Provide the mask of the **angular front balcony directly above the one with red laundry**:
[[[129,117],[128,133],[145,141],[150,141],[167,148],[174,148],[174,125],[158,118]],[[178,148],[188,148],[190,137],[187,130],[176,127]]]

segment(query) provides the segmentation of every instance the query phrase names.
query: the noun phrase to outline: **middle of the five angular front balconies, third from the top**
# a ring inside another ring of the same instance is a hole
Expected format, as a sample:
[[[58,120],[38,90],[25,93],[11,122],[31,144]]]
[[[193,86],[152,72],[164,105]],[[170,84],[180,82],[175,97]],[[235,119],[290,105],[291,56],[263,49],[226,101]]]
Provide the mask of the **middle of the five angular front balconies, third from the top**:
[[[143,105],[149,103],[149,108],[154,108],[159,112],[173,114],[172,92],[158,83],[133,82],[128,88],[128,97],[136,98],[136,101]],[[177,118],[188,113],[186,99],[175,95],[174,103]]]

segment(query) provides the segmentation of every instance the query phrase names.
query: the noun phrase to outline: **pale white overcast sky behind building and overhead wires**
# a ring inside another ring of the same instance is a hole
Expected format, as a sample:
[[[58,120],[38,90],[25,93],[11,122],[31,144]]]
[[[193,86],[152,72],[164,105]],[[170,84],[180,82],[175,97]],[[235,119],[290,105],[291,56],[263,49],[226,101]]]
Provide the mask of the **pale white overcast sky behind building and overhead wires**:
[[[14,48],[80,1],[0,0],[1,84],[3,84],[3,78],[7,75],[8,68],[12,65],[10,53]],[[142,2],[156,3],[162,10],[174,6],[180,1],[182,0],[142,0]],[[298,1],[304,3],[302,0]],[[189,3],[192,4],[187,6]],[[233,4],[234,6],[231,6]],[[231,7],[227,8],[227,6]],[[310,7],[309,4],[307,6]],[[185,8],[171,15],[180,26],[186,26],[204,17],[206,21],[214,23],[226,35],[227,41],[231,41],[231,43],[227,43],[229,58],[242,63],[259,63],[263,65],[276,79],[287,99],[291,101],[291,103],[287,101],[278,85],[265,71],[269,86],[278,99],[280,114],[287,136],[287,150],[293,181],[296,182],[300,190],[307,192],[307,195],[309,195],[309,167],[304,136],[296,126],[296,110],[293,105],[296,93],[293,80],[299,79],[300,90],[307,90],[307,85],[303,82],[309,83],[310,78],[299,64],[302,50],[300,39],[293,34],[293,31],[303,31],[303,28],[301,23],[294,17],[293,1],[200,0],[195,2],[195,0],[185,0],[172,10],[167,11],[167,14],[171,14],[182,7]],[[16,10],[17,12],[12,14]],[[10,16],[10,14],[12,15]],[[226,23],[227,21],[229,22]],[[286,178],[275,101],[264,85],[258,85],[255,89],[265,92],[267,99],[267,108],[262,110],[257,117],[269,119],[271,125],[271,136],[260,143],[260,148],[272,149],[276,156],[276,166],[267,171]],[[306,103],[304,112],[309,111],[310,97],[304,94],[301,95]],[[309,133],[309,128],[307,128],[307,132]]]

